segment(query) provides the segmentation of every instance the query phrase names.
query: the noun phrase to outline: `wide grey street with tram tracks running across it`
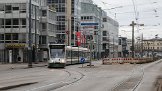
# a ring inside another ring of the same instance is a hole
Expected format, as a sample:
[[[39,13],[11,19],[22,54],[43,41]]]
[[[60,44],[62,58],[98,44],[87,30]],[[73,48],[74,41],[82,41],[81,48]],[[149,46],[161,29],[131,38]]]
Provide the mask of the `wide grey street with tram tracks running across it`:
[[[65,69],[35,67],[1,70],[0,89],[7,91],[153,91],[162,60],[149,64],[101,65],[93,62]]]

